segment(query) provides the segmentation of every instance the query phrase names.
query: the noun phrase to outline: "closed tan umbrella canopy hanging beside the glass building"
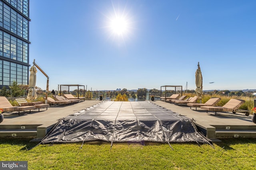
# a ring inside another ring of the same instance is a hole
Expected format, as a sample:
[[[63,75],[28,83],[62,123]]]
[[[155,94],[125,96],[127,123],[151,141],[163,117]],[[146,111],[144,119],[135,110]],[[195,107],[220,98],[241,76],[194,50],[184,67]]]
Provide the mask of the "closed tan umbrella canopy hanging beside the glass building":
[[[29,90],[28,90],[28,100],[35,100],[37,98],[36,94],[36,67],[33,65],[30,68],[30,76],[29,76]]]

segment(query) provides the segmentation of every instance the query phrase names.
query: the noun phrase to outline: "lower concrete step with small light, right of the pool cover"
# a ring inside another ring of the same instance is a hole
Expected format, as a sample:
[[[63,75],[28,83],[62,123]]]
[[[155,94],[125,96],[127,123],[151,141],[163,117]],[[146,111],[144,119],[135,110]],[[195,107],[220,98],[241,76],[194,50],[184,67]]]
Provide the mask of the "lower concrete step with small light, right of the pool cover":
[[[254,129],[216,129],[216,138],[256,137]]]

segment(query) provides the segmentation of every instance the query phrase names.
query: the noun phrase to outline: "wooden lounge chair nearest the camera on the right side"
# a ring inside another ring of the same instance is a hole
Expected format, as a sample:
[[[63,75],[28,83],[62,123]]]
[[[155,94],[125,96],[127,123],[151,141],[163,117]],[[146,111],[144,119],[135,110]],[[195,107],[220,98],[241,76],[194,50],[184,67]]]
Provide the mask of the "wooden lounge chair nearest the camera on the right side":
[[[215,115],[217,111],[236,111],[239,109],[242,104],[244,104],[244,100],[240,99],[230,99],[224,106],[201,106],[201,109],[206,110],[206,113],[208,111],[215,111]]]

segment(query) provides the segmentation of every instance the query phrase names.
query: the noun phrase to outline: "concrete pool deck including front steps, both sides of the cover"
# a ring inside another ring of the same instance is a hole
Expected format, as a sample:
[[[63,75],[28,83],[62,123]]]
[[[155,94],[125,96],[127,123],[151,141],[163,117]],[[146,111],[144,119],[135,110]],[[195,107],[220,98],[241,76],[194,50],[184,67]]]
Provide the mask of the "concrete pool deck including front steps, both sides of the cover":
[[[26,114],[21,112],[20,116],[18,113],[4,114],[4,121],[0,123],[0,137],[35,136],[43,138],[59,119],[100,102],[102,101],[86,100],[78,104],[50,106],[47,110],[32,110],[31,113],[26,111],[24,112]],[[217,112],[215,115],[214,112],[206,113],[200,108],[195,111],[188,106],[170,104],[160,100],[152,103],[193,119],[198,130],[212,141],[224,137],[256,137],[256,124],[252,122],[251,115],[231,112]]]

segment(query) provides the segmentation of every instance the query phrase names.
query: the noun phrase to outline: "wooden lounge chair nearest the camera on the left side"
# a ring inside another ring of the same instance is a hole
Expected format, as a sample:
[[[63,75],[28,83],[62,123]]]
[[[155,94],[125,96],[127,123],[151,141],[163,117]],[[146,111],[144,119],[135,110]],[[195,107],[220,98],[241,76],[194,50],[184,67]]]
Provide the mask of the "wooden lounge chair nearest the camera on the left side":
[[[18,111],[20,115],[20,111],[27,111],[29,110],[29,113],[32,109],[35,109],[35,106],[12,106],[10,102],[7,100],[6,97],[0,96],[0,108],[3,109],[3,111]]]

